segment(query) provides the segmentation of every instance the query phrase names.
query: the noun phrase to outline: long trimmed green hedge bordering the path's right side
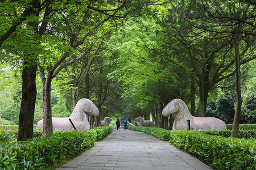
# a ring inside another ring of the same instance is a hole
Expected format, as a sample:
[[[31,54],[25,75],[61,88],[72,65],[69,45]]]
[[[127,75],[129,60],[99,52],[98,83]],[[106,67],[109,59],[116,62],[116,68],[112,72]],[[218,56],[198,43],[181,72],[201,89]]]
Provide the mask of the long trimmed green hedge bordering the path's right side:
[[[256,169],[255,130],[240,131],[241,139],[231,138],[230,130],[186,131],[129,126],[143,131],[209,164],[214,169]],[[207,134],[208,133],[208,134]],[[226,137],[222,137],[226,136]]]

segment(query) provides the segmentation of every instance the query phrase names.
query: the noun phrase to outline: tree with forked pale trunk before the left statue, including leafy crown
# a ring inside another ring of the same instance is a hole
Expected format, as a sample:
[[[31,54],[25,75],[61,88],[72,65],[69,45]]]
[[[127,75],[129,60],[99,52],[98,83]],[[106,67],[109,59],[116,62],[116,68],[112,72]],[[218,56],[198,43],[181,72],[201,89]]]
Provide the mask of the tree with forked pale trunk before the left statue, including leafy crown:
[[[43,134],[52,134],[51,81],[61,69],[81,59],[86,51],[79,49],[94,35],[97,29],[112,18],[125,18],[127,15],[138,15],[150,1],[102,1],[59,2],[60,11],[55,13],[56,22],[48,29],[51,35],[61,37],[63,44],[60,57],[47,59],[46,65],[39,66],[43,84]],[[66,4],[67,3],[67,4]],[[58,41],[56,46],[59,46]],[[52,44],[51,44],[52,45]],[[65,49],[66,48],[66,49]],[[49,61],[51,60],[51,61]],[[45,64],[45,63],[44,63]],[[46,67],[46,68],[45,68]],[[47,74],[46,71],[47,70]]]

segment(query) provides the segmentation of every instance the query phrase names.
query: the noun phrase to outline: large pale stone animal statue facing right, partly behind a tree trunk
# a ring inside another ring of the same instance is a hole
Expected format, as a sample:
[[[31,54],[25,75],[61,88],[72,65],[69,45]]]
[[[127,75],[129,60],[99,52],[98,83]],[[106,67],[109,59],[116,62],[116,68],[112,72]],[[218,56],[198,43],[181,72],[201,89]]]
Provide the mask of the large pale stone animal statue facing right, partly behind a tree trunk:
[[[98,111],[98,108],[96,107],[96,105],[93,104],[92,101],[90,101],[89,99],[81,99],[77,102],[71,116],[52,117],[53,131],[75,130],[71,125],[69,118],[71,119],[77,130],[90,129],[90,124],[88,121],[89,114],[93,114],[94,116],[98,117],[100,112]],[[36,129],[43,130],[43,120],[38,121]]]

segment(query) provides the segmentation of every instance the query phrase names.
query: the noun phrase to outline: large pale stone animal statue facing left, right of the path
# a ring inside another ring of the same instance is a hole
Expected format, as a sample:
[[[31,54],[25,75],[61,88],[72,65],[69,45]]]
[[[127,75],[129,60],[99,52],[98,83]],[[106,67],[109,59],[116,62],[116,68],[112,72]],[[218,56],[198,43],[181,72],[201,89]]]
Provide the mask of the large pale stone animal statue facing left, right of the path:
[[[191,130],[222,130],[226,129],[224,121],[215,117],[195,117],[189,112],[183,100],[174,99],[164,107],[162,112],[164,117],[170,114],[175,115],[172,129],[187,130],[187,120],[190,120]]]

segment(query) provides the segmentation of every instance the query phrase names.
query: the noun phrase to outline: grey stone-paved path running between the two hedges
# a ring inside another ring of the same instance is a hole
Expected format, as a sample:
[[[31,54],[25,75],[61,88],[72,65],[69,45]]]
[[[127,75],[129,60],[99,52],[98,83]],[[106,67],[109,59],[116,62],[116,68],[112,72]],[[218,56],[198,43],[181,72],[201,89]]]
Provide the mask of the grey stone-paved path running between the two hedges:
[[[57,170],[69,169],[212,169],[170,145],[139,131],[113,132]]]

